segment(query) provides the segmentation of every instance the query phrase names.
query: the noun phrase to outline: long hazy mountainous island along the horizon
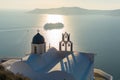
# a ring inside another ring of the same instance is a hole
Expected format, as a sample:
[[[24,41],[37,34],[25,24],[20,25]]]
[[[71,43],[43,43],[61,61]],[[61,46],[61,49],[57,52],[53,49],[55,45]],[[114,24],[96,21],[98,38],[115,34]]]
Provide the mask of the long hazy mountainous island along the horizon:
[[[28,11],[32,14],[61,14],[61,15],[120,15],[120,9],[116,10],[89,10],[80,7],[60,7],[50,9],[39,9]]]

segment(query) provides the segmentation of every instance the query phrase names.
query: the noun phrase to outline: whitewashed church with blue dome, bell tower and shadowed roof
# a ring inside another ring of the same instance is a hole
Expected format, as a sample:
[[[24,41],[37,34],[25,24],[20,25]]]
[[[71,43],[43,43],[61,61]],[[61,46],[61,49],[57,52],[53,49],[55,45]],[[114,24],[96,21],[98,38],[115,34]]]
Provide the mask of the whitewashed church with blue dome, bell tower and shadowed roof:
[[[9,70],[32,80],[93,80],[93,69],[94,54],[73,51],[70,34],[62,34],[59,51],[46,51],[45,39],[37,33],[28,59],[13,63]]]

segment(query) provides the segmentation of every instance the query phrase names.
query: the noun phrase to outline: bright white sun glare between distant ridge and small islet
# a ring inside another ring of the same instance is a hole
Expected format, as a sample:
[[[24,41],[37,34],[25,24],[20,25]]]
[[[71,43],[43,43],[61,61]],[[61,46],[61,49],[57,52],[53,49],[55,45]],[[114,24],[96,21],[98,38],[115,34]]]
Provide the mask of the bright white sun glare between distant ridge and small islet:
[[[47,16],[47,23],[63,23],[63,16],[62,15],[48,15]]]

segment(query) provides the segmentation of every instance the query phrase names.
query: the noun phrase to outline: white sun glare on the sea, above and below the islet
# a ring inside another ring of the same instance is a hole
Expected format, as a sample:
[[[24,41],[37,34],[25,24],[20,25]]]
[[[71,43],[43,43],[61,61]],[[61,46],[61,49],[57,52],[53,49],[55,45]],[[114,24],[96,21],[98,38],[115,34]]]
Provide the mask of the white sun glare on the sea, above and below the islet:
[[[63,23],[64,24],[64,16],[62,15],[46,15],[46,23]],[[47,46],[50,44],[51,47],[55,47],[58,49],[59,41],[62,39],[62,33],[64,28],[62,29],[54,29],[54,30],[44,30],[46,36]]]

